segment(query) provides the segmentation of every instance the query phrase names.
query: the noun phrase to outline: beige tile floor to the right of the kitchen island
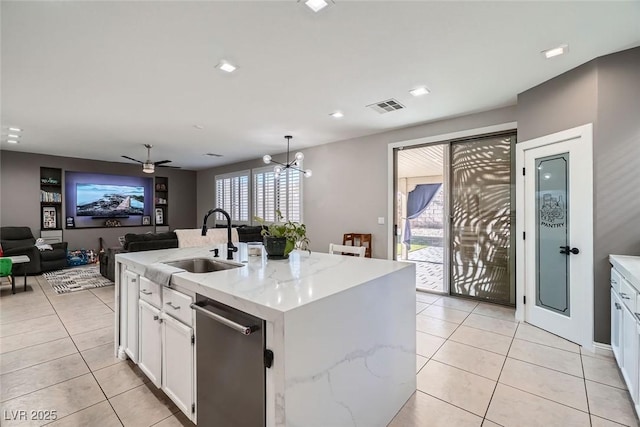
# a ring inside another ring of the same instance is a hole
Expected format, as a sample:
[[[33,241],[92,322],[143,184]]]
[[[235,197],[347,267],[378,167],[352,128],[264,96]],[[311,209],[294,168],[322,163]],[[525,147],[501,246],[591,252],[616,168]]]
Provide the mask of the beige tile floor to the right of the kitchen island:
[[[615,361],[514,310],[418,293],[418,390],[391,426],[638,426]]]

